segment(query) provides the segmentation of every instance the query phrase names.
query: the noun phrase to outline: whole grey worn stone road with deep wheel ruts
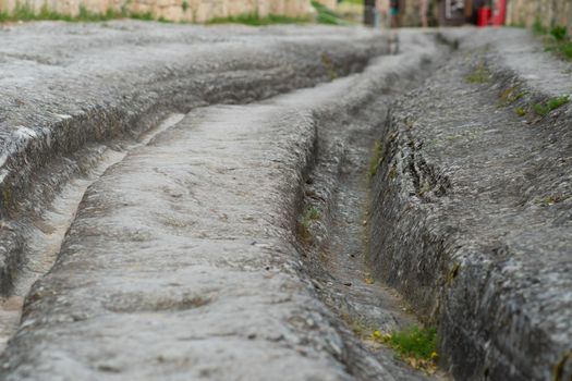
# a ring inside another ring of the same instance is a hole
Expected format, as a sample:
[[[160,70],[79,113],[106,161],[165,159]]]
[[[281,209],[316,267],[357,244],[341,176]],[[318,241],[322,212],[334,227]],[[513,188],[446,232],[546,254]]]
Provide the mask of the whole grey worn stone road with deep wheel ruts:
[[[570,378],[569,64],[525,30],[0,36],[1,379]],[[370,340],[411,324],[442,371]]]

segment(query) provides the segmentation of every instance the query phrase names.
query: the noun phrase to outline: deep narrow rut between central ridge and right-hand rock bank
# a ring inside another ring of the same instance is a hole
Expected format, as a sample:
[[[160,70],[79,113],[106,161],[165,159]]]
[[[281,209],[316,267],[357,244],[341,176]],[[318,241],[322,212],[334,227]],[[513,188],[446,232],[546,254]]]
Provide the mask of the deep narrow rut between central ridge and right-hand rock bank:
[[[397,66],[402,59],[398,54],[390,60]],[[360,379],[379,376],[362,360],[367,356],[397,379],[449,379],[435,369],[412,373],[392,349],[373,340],[375,331],[391,333],[423,324],[394,290],[374,279],[366,258],[372,160],[376,160],[373,151],[379,125],[387,122],[394,97],[419,86],[433,70],[431,60],[407,75],[389,70],[386,85],[360,108],[352,112],[329,108],[318,123],[316,162],[305,181],[299,236],[314,287],[363,344],[355,345],[352,359]]]

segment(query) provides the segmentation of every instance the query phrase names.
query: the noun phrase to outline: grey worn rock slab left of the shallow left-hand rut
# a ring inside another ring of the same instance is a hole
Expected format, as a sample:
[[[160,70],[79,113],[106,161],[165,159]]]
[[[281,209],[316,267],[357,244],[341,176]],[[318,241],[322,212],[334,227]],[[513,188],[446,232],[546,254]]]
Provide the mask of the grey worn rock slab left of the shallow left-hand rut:
[[[141,22],[1,26],[0,290],[58,190],[170,112],[245,103],[361,70],[387,42],[362,28]],[[41,228],[40,228],[41,229]]]

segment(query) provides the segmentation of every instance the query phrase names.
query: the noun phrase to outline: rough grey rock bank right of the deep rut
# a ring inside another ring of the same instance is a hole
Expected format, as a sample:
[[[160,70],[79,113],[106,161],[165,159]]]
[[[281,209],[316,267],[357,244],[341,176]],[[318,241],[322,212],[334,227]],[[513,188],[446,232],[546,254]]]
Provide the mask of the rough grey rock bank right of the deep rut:
[[[455,378],[569,380],[572,108],[534,105],[571,67],[525,30],[475,35],[390,111],[369,260],[439,323]]]

